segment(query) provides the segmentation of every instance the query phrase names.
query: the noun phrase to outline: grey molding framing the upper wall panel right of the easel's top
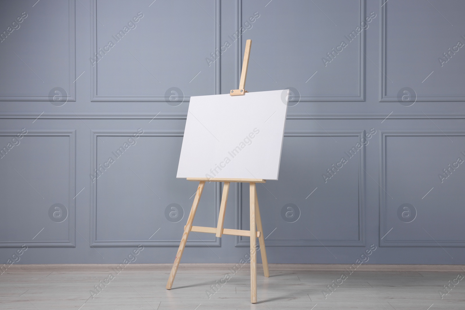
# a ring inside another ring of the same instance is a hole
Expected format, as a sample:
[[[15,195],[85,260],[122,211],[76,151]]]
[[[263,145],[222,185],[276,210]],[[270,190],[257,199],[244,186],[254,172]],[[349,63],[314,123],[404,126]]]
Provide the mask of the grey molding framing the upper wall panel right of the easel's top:
[[[365,6],[366,0],[359,0],[359,16],[358,23],[365,19]],[[237,22],[237,31],[239,32],[239,27],[242,25],[242,0],[238,0],[238,22]],[[239,32],[240,33],[240,32]],[[241,40],[238,40],[237,48],[237,59],[236,59],[236,74],[237,74],[237,87],[239,87],[239,77],[242,70],[242,59],[244,50],[242,48],[242,36]],[[357,96],[311,96],[311,95],[301,95],[299,102],[357,102],[365,101],[365,31],[360,35],[359,42],[359,94]]]

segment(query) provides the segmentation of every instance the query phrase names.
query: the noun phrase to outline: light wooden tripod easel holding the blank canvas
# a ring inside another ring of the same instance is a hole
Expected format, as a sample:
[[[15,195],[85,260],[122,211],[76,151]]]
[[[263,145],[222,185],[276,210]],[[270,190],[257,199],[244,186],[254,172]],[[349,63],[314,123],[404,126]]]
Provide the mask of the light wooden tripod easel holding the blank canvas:
[[[245,90],[246,85],[246,76],[247,76],[247,67],[249,65],[249,55],[250,47],[252,40],[246,41],[246,51],[244,53],[244,62],[242,63],[242,72],[240,74],[239,89],[231,90],[231,96],[245,95],[247,92]],[[184,233],[182,234],[181,243],[179,244],[178,253],[174,258],[173,268],[171,269],[170,277],[168,278],[168,283],[166,284],[166,289],[171,290],[173,286],[174,277],[176,277],[176,272],[178,271],[179,262],[184,252],[184,247],[186,246],[187,237],[189,237],[189,232],[209,232],[216,235],[216,237],[221,237],[225,235],[234,235],[234,236],[244,236],[250,237],[250,301],[252,303],[257,303],[257,237],[259,238],[260,251],[263,262],[263,272],[265,277],[270,276],[268,270],[268,260],[266,258],[265,250],[265,238],[263,237],[263,227],[260,218],[259,211],[259,202],[257,198],[257,189],[256,183],[265,183],[264,179],[254,179],[254,178],[187,178],[188,181],[199,181],[199,187],[195,194],[194,202],[192,204],[191,212],[187,218],[187,224],[184,226]],[[205,186],[205,182],[224,182],[223,185],[223,194],[221,196],[221,204],[219,208],[219,217],[217,227],[203,227],[203,226],[193,226],[195,212],[197,211],[197,206],[199,205],[200,196]],[[226,202],[228,200],[229,185],[231,182],[244,182],[250,184],[250,231],[238,230],[238,229],[227,229],[223,228],[225,220],[225,211],[226,211]],[[255,226],[257,224],[257,226]]]

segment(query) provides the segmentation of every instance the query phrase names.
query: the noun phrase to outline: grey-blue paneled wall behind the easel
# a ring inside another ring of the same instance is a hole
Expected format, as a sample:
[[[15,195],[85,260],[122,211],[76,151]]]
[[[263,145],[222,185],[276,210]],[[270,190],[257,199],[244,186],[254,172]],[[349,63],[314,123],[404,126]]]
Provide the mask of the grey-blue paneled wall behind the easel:
[[[279,181],[258,185],[269,261],[352,264],[375,244],[368,264],[465,264],[464,1],[0,6],[1,263],[23,244],[18,264],[120,263],[139,244],[138,263],[173,262],[197,186],[175,178],[188,99],[237,88],[252,39],[246,89],[293,93]],[[195,225],[216,225],[220,194],[206,185]],[[225,227],[248,225],[234,185]],[[248,238],[187,244],[183,262],[235,263]]]

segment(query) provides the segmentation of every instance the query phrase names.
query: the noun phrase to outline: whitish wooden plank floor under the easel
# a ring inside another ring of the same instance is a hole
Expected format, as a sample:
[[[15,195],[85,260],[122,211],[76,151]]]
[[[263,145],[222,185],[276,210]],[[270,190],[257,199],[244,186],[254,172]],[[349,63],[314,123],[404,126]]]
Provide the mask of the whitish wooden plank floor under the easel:
[[[463,270],[356,270],[325,299],[323,290],[327,290],[327,285],[333,280],[336,282],[340,278],[341,271],[279,270],[279,267],[274,267],[270,268],[271,276],[265,278],[259,268],[258,303],[251,304],[247,265],[226,284],[218,285],[217,292],[210,298],[206,291],[213,293],[211,285],[217,280],[220,282],[228,272],[232,275],[227,268],[234,264],[213,268],[202,265],[188,269],[182,268],[181,264],[172,290],[165,289],[168,265],[160,268],[128,265],[94,298],[90,293],[94,285],[103,282],[109,273],[116,274],[108,265],[100,268],[95,265],[66,268],[59,265],[13,266],[0,275],[2,310],[465,309],[465,279],[443,299],[439,294],[449,280],[452,282],[458,274],[465,275]]]

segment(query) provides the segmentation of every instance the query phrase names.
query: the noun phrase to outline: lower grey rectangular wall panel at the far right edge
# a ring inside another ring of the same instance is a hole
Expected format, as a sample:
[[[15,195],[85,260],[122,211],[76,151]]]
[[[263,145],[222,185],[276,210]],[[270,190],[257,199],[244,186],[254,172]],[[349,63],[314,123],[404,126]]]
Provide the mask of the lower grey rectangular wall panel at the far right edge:
[[[385,131],[381,139],[380,246],[464,246],[465,133]]]

